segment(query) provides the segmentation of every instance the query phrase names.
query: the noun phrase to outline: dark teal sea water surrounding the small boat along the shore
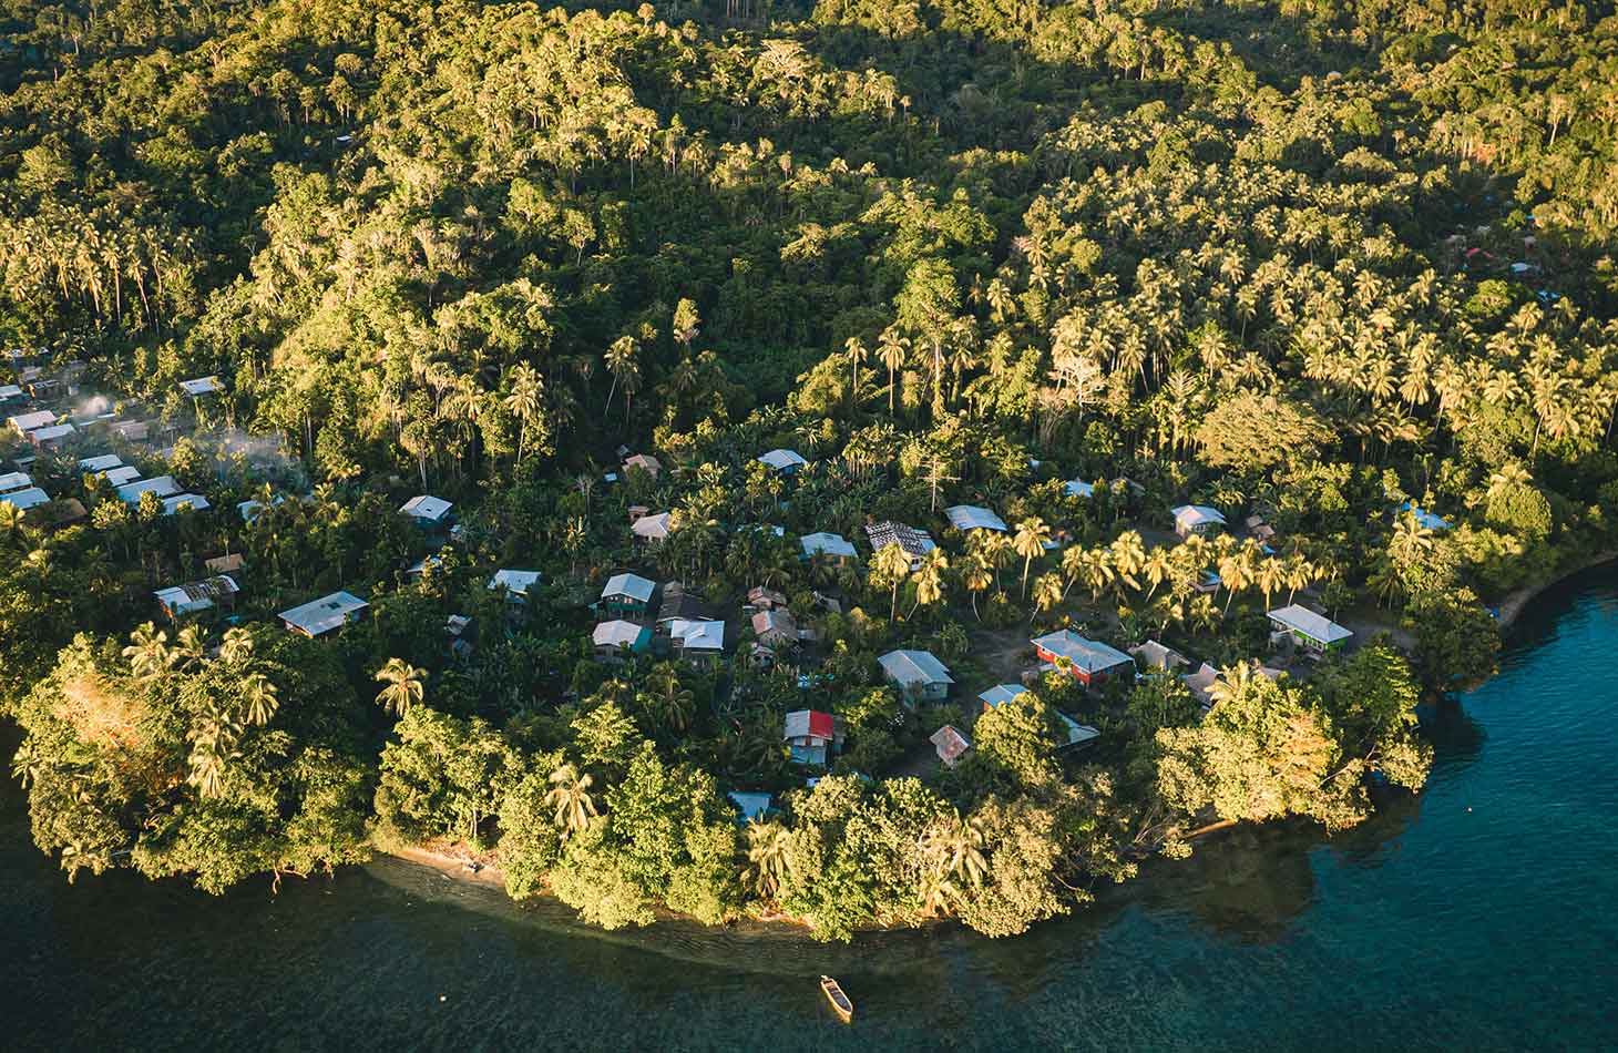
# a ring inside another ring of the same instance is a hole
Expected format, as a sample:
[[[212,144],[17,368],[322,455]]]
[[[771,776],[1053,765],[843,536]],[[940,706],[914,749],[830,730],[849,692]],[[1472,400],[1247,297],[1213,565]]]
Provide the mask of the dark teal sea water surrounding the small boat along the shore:
[[[1019,940],[578,935],[404,864],[214,899],[68,886],[0,818],[0,1048],[1613,1050],[1618,573],[1527,611],[1429,720],[1429,789],[1238,831]],[[814,977],[859,1004],[830,1017]]]

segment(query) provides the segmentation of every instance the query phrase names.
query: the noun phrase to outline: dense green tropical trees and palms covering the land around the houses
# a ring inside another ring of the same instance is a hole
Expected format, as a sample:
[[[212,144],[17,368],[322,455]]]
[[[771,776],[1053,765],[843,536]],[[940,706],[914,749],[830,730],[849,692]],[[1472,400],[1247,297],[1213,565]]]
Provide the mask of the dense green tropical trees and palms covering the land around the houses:
[[[1618,540],[1610,3],[5,0],[0,92],[5,412],[79,422],[0,438],[0,712],[70,877],[1014,935],[1421,789],[1490,605]],[[937,547],[804,547],[880,522]],[[626,571],[722,652],[602,653]]]

